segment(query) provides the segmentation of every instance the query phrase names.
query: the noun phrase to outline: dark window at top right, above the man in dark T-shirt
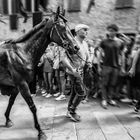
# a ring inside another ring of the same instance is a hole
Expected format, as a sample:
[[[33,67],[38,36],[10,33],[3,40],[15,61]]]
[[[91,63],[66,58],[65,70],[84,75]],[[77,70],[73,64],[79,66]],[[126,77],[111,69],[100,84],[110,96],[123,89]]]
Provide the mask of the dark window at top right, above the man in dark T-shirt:
[[[133,0],[116,0],[116,9],[133,8]]]

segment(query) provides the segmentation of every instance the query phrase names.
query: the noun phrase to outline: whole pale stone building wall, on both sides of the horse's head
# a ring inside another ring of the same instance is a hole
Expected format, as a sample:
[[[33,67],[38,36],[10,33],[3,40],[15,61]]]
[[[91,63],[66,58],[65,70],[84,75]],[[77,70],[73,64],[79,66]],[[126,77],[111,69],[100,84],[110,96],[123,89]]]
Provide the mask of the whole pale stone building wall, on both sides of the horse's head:
[[[67,9],[68,0],[64,1],[64,8]],[[95,6],[91,8],[90,13],[86,13],[90,0],[81,0],[81,12],[68,13],[66,17],[69,20],[69,25],[74,28],[76,24],[84,23],[90,26],[89,38],[96,38],[105,34],[106,26],[110,23],[116,23],[120,27],[121,32],[136,33],[140,27],[140,0],[134,0],[134,8],[130,9],[115,9],[115,0],[95,0]],[[57,5],[60,5],[60,0],[50,0],[49,8],[56,10]],[[32,18],[30,17],[27,23],[22,23],[23,19],[19,18],[17,31],[9,29],[9,18],[1,17],[7,24],[0,23],[0,39],[17,38],[30,28],[32,28]]]

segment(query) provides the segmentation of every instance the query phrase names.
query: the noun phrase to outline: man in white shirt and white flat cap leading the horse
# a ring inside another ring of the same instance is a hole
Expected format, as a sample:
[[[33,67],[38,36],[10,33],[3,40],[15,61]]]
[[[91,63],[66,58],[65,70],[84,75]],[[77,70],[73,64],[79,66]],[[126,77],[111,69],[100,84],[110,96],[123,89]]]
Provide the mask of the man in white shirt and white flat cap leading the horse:
[[[70,64],[72,69],[76,70],[80,74],[80,76],[77,76],[73,75],[71,71],[67,71],[67,73],[70,74],[70,78],[72,81],[72,91],[68,102],[67,116],[75,122],[80,121],[80,116],[75,112],[76,108],[86,95],[85,85],[83,84],[83,68],[85,64],[90,65],[90,63],[88,63],[90,62],[88,44],[85,41],[88,29],[89,27],[85,24],[79,24],[75,27],[75,39],[80,49],[77,54],[70,55],[71,60],[65,59],[68,63],[66,61],[64,62],[65,64]]]

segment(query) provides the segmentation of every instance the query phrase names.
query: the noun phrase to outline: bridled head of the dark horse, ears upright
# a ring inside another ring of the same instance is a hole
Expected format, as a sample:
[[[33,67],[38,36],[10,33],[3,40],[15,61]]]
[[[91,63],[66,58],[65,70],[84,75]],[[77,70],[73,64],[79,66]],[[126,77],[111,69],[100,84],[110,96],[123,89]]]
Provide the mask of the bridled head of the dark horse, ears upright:
[[[64,14],[60,14],[59,7],[53,19],[50,40],[66,49],[71,54],[77,53],[79,50],[76,40],[67,25],[67,19],[64,17]]]

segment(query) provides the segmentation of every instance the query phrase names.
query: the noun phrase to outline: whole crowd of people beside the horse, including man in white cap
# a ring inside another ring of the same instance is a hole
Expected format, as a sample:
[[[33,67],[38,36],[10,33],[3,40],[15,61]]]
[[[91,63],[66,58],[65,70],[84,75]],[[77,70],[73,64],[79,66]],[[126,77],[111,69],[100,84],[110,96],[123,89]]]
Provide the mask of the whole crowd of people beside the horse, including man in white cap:
[[[87,38],[89,30],[85,24],[72,30],[80,47],[76,54],[67,53],[54,42],[49,44],[38,64],[42,69],[38,90],[45,98],[55,97],[57,101],[66,100],[69,95],[67,116],[74,121],[80,120],[76,108],[90,97],[100,97],[104,109],[127,99],[136,104],[138,112],[140,35],[126,36],[116,24],[110,24],[105,36],[95,40]],[[85,67],[86,73],[92,70],[90,81],[83,81]],[[89,86],[86,82],[90,82]]]

